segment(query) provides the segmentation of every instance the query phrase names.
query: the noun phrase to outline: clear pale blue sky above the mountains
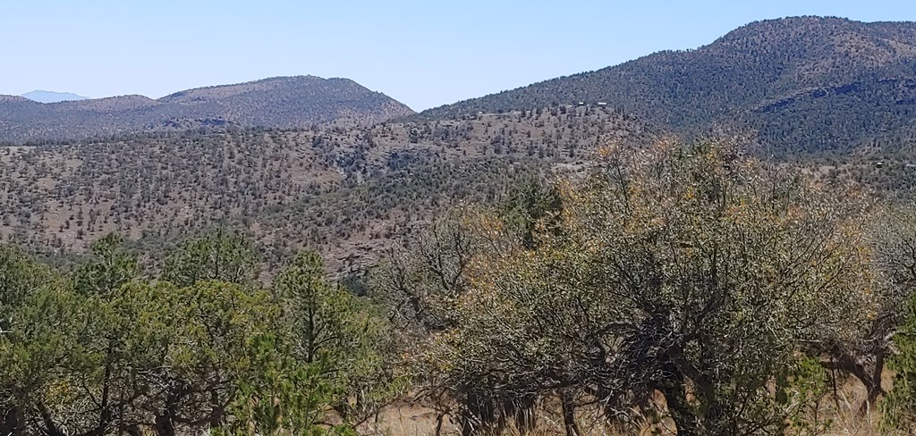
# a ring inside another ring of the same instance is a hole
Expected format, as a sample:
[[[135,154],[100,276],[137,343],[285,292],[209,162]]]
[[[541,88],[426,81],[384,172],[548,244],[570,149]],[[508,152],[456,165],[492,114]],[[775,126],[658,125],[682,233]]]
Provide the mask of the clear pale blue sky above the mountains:
[[[916,21],[916,2],[3,0],[0,94],[158,98],[313,74],[422,110],[800,15]]]

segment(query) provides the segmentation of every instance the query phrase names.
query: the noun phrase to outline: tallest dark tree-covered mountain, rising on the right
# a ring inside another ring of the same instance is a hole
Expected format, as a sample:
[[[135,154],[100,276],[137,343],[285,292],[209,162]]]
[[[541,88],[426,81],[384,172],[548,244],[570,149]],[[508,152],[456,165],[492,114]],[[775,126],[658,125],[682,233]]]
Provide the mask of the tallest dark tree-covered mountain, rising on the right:
[[[551,103],[603,102],[677,133],[752,129],[770,152],[844,152],[912,142],[916,23],[792,17],[420,114],[448,119]]]

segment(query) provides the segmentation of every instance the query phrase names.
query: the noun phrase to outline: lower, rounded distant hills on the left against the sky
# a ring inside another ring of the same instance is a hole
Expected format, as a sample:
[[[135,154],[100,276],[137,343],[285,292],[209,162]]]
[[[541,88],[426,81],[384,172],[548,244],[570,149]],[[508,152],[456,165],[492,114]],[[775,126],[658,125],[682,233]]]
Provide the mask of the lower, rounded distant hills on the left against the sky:
[[[321,122],[371,124],[412,114],[348,79],[279,77],[176,92],[38,103],[0,96],[0,143],[69,141],[115,134],[236,125],[304,129]]]

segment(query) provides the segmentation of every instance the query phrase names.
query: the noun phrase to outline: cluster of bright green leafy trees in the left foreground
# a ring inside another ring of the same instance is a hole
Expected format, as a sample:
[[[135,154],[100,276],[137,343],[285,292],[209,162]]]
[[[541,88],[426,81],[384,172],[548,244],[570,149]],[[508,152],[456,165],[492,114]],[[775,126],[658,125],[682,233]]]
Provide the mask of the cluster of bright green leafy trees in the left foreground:
[[[3,248],[3,434],[350,433],[385,404],[387,329],[371,307],[316,255],[272,288],[244,280],[250,253],[225,238],[238,235],[173,255],[170,271],[191,271],[169,275],[178,284],[141,278],[115,236],[72,274]]]

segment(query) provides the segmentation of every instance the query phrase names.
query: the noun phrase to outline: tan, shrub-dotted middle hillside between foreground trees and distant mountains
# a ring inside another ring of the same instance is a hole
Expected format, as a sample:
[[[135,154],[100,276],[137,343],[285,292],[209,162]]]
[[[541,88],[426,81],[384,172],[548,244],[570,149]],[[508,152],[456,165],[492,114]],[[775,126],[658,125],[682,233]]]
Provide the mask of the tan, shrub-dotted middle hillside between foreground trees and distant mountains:
[[[163,240],[224,223],[270,246],[271,259],[316,247],[335,267],[365,265],[398,229],[441,207],[496,201],[519,179],[581,168],[600,145],[655,137],[630,116],[550,107],[447,122],[6,147],[0,243],[80,252],[117,230],[161,250]]]

